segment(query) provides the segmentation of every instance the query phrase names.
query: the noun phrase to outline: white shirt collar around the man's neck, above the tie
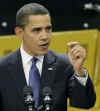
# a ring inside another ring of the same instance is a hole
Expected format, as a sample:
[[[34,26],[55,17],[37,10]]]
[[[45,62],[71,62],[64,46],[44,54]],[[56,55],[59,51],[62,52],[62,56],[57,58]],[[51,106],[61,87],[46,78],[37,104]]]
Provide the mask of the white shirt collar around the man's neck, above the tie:
[[[33,56],[29,55],[23,48],[23,44],[20,47],[20,51],[21,51],[21,56],[22,56],[22,60],[25,64],[27,64],[28,62],[30,62],[33,58]],[[36,56],[36,58],[38,58],[38,60],[40,62],[43,62],[44,56],[43,55],[39,55]]]

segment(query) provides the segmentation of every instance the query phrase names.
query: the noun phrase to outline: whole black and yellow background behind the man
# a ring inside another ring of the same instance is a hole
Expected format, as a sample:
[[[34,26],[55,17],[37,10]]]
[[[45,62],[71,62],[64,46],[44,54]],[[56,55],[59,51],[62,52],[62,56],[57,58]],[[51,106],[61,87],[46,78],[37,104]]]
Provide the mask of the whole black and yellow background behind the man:
[[[100,111],[100,0],[0,0],[0,57],[20,47],[14,34],[16,12],[30,2],[44,5],[51,13],[52,50],[66,53],[66,43],[78,41],[88,52],[84,66],[95,86],[96,104],[89,110],[68,107],[68,111]]]

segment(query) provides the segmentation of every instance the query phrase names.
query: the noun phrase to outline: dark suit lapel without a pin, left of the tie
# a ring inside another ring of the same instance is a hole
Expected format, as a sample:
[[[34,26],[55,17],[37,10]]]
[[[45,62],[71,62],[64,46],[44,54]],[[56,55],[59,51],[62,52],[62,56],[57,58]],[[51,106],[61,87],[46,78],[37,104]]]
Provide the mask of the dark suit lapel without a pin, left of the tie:
[[[14,53],[14,55],[12,56],[12,59],[10,60],[9,65],[10,66],[8,67],[8,70],[10,72],[12,79],[14,80],[16,88],[18,89],[18,95],[20,96],[20,98],[22,98],[23,88],[26,85],[26,79],[25,79],[25,74],[22,67],[20,50]]]

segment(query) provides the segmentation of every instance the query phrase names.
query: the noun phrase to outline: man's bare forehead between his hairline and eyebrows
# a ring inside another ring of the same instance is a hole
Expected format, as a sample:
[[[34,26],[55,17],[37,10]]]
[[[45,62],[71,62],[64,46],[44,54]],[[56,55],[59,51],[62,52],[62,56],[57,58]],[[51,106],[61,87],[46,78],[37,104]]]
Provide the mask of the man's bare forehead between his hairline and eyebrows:
[[[46,15],[30,15],[28,18],[28,24],[32,26],[45,26],[51,25],[51,18]]]

